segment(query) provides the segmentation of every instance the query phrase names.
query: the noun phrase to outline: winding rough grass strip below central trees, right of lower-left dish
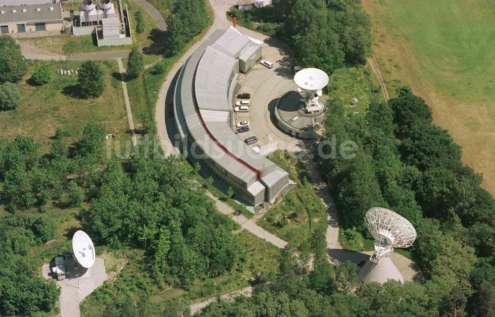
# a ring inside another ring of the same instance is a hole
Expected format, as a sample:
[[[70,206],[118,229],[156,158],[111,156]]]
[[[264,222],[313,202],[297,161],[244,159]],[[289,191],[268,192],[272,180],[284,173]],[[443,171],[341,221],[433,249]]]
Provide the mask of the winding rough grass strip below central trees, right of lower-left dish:
[[[114,281],[105,282],[91,294],[81,304],[81,312],[85,316],[101,316],[105,307],[114,300],[116,292],[126,292],[134,300],[139,300],[140,296],[146,293],[150,304],[158,307],[166,300],[178,296],[191,303],[198,302],[246,287],[256,276],[277,269],[277,257],[280,253],[278,248],[247,231],[240,232],[239,237],[248,255],[244,269],[217,278],[198,280],[187,290],[155,284],[147,273],[143,252],[127,250],[122,256],[127,261],[124,269]]]

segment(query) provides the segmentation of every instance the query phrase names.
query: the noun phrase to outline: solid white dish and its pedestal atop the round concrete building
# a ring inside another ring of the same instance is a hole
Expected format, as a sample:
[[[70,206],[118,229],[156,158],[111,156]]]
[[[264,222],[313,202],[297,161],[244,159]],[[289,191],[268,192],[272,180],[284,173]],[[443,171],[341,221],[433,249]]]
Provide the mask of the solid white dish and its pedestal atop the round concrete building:
[[[323,109],[320,102],[321,90],[328,85],[328,75],[321,69],[304,68],[294,76],[294,82],[302,89],[302,98],[307,112]]]

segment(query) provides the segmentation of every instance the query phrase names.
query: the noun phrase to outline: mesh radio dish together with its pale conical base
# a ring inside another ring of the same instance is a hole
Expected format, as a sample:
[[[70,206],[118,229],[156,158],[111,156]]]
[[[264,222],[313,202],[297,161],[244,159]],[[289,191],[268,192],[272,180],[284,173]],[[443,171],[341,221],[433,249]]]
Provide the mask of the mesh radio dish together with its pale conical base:
[[[408,248],[416,239],[412,224],[398,213],[385,208],[371,208],[364,222],[375,239],[375,252],[358,272],[360,282],[385,283],[389,279],[404,282],[402,274],[389,258],[394,248]]]

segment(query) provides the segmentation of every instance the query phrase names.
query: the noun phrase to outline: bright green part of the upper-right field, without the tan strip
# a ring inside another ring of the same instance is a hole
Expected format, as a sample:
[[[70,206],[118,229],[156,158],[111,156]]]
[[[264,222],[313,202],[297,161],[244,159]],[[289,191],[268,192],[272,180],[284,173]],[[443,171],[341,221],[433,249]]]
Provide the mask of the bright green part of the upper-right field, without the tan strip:
[[[410,44],[439,92],[495,101],[495,0],[379,0],[383,24]]]

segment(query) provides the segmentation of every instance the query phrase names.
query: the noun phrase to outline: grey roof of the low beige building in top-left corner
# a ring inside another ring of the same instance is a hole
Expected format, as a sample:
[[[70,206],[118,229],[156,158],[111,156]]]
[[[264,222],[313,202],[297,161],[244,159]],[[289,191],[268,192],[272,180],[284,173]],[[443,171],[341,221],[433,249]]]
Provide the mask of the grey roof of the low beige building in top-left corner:
[[[0,23],[63,21],[59,3],[8,5],[0,7],[0,11],[4,12],[0,13]]]

